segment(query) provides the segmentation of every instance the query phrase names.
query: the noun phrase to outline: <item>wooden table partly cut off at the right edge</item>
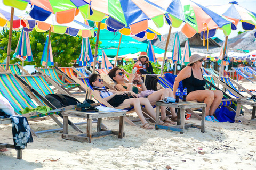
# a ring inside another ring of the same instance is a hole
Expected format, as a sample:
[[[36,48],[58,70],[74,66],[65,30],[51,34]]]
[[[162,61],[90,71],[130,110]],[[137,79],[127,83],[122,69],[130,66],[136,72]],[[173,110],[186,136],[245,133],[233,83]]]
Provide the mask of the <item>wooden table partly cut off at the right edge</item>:
[[[238,123],[241,118],[240,117],[240,109],[241,109],[242,104],[252,106],[252,119],[250,121],[253,123],[256,123],[256,120],[255,120],[256,102],[254,102],[252,100],[246,100],[246,99],[238,99],[237,100],[235,122]]]

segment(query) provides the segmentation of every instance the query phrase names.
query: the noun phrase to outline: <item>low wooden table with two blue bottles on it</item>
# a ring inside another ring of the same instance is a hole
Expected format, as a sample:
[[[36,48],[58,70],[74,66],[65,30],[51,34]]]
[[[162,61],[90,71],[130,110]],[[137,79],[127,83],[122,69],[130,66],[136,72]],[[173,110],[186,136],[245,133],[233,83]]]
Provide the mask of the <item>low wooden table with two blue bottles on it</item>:
[[[159,117],[160,117],[160,106],[173,107],[178,108],[178,121],[177,126],[162,126],[159,125]],[[201,126],[195,124],[185,124],[185,109],[191,108],[202,108],[202,120]],[[184,132],[184,128],[199,128],[201,132],[205,131],[205,108],[206,103],[197,103],[193,101],[180,101],[179,103],[163,103],[162,101],[156,102],[156,129],[166,129],[172,131],[179,131],[181,134]]]

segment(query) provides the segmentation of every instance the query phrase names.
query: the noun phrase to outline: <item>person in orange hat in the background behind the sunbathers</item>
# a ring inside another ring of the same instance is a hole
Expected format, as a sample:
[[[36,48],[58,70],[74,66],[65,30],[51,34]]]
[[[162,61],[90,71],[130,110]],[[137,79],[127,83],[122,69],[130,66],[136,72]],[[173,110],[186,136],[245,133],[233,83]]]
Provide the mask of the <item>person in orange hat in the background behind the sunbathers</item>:
[[[155,74],[153,67],[149,62],[149,58],[146,52],[141,52],[138,57],[138,61],[133,66],[133,69],[137,67],[137,74]]]

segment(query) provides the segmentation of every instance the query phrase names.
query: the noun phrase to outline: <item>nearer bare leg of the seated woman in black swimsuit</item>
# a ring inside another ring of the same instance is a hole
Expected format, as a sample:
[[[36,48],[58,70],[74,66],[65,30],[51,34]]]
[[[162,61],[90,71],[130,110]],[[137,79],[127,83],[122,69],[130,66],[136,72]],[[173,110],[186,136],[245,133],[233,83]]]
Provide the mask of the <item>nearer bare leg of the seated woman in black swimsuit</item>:
[[[214,100],[214,93],[210,90],[197,90],[190,92],[187,96],[187,100],[197,100],[198,102],[204,102],[207,104],[205,108],[205,116],[209,116],[209,109]]]

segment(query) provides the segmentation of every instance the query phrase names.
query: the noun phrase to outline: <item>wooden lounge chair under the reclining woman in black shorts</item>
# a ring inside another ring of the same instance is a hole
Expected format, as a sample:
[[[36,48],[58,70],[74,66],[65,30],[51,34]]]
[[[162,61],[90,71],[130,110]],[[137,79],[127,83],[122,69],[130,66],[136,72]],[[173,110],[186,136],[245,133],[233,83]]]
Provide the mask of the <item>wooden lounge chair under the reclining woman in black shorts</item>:
[[[74,79],[74,81],[76,83],[79,83],[83,88],[85,88],[87,91],[89,91],[90,94],[94,97],[94,99],[97,100],[102,106],[114,108],[106,100],[104,100],[97,92],[93,91],[93,89],[92,89],[92,87],[90,86],[90,83],[89,83],[89,78],[76,78],[76,77],[73,77],[73,79]],[[127,110],[127,113],[133,113],[134,112],[134,108],[131,105],[118,106],[118,107],[115,107],[115,108]],[[141,109],[142,109],[142,113],[146,117],[146,119],[149,119],[150,122],[155,122],[155,120],[151,116],[149,116],[147,114],[147,111],[146,111],[145,108],[142,107]],[[124,120],[125,120],[125,122],[127,122],[128,124],[130,124],[132,126],[137,126],[133,122],[140,121],[139,119],[131,121],[127,117],[125,117]]]

